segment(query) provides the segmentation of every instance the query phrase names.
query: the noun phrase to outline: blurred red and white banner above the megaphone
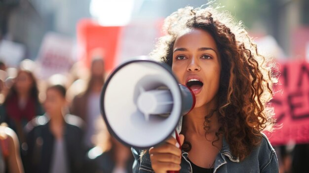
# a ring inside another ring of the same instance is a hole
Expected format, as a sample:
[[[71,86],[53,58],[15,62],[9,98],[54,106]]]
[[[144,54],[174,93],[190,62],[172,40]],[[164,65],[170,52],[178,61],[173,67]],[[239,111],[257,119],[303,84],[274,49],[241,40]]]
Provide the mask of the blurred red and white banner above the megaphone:
[[[77,24],[77,42],[80,60],[89,67],[92,58],[102,57],[110,72],[119,63],[139,55],[148,55],[154,49],[155,38],[162,35],[163,19],[132,21],[127,26],[100,26],[91,19]]]

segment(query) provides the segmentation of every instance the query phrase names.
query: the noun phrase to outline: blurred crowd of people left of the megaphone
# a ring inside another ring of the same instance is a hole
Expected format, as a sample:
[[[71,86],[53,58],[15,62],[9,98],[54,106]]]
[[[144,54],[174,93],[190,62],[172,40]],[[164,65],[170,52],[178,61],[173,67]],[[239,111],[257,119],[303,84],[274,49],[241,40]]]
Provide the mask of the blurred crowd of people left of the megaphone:
[[[15,76],[2,62],[0,68],[0,173],[132,172],[130,148],[101,116],[102,58],[93,59],[86,79],[64,76],[62,83],[38,81],[31,68],[19,67]],[[72,92],[80,80],[85,89]]]

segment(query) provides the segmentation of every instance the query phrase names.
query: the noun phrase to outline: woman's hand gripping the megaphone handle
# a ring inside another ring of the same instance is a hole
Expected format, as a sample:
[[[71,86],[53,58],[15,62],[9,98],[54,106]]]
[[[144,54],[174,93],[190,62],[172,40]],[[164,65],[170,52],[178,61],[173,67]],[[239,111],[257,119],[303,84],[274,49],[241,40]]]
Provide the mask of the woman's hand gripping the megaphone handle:
[[[179,135],[179,139],[180,145],[182,145],[185,137]],[[155,173],[166,173],[167,171],[179,171],[181,169],[181,149],[179,149],[179,143],[173,137],[159,146],[150,148],[149,154]]]

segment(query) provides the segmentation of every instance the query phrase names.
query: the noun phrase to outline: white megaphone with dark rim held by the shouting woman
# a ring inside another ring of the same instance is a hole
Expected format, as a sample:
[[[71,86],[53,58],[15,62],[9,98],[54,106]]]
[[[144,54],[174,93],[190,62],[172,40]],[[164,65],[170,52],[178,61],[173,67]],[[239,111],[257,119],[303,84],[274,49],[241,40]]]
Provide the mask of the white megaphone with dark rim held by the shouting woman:
[[[181,130],[182,115],[193,109],[193,92],[180,85],[169,66],[140,57],[118,66],[101,93],[110,133],[123,144],[150,148]]]

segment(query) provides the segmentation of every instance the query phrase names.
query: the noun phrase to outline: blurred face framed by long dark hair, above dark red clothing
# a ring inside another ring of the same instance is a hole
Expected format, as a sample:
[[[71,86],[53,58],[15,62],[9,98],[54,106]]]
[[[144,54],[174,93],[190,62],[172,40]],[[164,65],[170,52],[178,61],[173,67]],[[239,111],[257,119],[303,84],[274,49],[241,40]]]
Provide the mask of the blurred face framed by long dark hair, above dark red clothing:
[[[33,79],[27,72],[20,72],[16,77],[15,87],[17,93],[27,93],[33,85]]]

